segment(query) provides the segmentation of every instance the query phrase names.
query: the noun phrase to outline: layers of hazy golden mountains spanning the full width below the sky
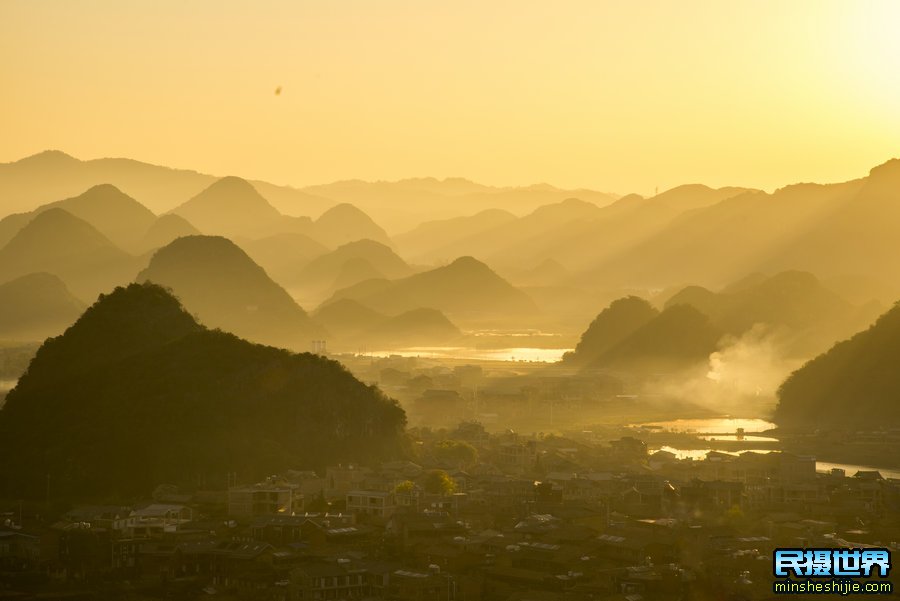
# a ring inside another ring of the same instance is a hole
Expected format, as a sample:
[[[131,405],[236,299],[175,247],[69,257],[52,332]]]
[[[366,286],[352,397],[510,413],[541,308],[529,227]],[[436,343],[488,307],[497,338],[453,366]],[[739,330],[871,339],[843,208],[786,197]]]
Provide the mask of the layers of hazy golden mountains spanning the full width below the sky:
[[[110,180],[93,181],[98,174]],[[84,187],[69,191],[75,185]],[[28,209],[0,220],[0,283],[45,272],[90,303],[132,281],[177,238],[222,235],[306,307],[352,298],[386,317],[434,308],[468,329],[522,325],[527,315],[529,327],[575,336],[612,300],[666,290],[727,333],[760,320],[799,331],[797,320],[807,319],[809,335],[791,342],[797,356],[864,326],[900,297],[900,160],[859,180],[773,194],[697,184],[651,198],[561,192],[430,178],[301,191],[47,152],[0,165],[0,197]],[[42,196],[51,193],[59,195]],[[389,213],[428,219],[392,239],[367,213],[381,202]],[[448,217],[438,218],[444,210]],[[445,270],[460,257],[487,271]],[[816,289],[783,280],[750,292],[760,282],[738,282],[784,272],[813,274]],[[698,288],[682,292],[686,284]]]

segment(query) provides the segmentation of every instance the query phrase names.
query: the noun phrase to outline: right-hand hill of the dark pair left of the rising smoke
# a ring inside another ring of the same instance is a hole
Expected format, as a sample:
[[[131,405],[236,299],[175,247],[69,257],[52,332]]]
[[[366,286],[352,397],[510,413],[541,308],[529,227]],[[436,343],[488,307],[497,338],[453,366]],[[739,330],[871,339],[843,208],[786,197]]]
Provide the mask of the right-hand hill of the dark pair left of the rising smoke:
[[[705,363],[723,336],[689,305],[674,305],[634,330],[589,364],[593,368],[665,373]]]

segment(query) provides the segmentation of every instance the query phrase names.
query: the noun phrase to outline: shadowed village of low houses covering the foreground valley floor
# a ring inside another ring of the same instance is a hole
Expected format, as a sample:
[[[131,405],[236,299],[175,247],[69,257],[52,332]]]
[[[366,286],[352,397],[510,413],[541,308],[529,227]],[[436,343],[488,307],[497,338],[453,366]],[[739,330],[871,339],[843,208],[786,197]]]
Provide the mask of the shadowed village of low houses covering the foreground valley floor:
[[[785,452],[414,429],[421,463],[6,507],[3,599],[770,598],[778,547],[896,548],[900,481]]]

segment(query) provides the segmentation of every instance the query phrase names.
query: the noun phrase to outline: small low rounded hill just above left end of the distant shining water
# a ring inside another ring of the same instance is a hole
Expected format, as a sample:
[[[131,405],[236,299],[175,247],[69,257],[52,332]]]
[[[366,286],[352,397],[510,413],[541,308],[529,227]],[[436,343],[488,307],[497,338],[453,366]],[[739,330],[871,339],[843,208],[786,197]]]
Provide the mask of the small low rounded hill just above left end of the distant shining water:
[[[436,309],[413,309],[389,317],[369,328],[362,338],[370,345],[386,348],[436,346],[462,336],[447,316]]]

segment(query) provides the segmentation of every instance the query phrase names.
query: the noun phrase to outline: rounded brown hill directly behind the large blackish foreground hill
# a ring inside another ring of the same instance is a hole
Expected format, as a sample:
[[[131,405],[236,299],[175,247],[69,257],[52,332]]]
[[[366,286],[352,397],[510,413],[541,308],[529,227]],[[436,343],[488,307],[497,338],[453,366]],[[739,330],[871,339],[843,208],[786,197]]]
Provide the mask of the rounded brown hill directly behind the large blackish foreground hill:
[[[171,288],[204,325],[248,340],[305,349],[322,335],[290,295],[226,238],[179,238],[153,255],[137,281]]]

